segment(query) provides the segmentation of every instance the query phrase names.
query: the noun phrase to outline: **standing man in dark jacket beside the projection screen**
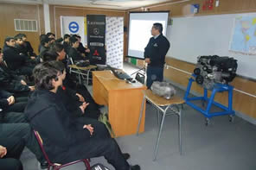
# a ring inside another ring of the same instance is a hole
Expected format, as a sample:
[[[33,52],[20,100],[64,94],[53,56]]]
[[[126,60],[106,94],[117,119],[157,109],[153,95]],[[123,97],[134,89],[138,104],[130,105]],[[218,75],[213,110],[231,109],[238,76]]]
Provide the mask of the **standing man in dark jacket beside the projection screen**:
[[[147,82],[148,89],[154,81],[163,81],[163,66],[165,63],[165,55],[170,48],[170,42],[162,34],[163,25],[154,23],[151,28],[150,41],[147,47],[144,48],[145,62],[147,67]]]

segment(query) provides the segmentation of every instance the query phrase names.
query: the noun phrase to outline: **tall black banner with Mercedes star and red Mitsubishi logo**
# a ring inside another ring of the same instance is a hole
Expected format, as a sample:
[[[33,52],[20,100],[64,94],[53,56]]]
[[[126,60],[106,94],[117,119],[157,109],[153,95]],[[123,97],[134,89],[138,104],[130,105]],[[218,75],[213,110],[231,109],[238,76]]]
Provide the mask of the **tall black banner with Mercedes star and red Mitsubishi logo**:
[[[106,64],[106,16],[87,15],[87,43],[91,50],[90,64]]]

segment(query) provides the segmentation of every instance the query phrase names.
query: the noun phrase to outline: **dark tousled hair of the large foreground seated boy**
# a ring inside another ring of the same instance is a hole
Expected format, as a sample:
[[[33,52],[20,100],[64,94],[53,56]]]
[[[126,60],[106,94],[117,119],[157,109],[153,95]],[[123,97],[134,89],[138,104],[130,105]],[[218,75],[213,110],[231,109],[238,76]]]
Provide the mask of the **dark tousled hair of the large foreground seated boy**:
[[[48,62],[38,64],[33,70],[35,89],[53,90],[53,79],[57,81],[59,73],[60,72]]]

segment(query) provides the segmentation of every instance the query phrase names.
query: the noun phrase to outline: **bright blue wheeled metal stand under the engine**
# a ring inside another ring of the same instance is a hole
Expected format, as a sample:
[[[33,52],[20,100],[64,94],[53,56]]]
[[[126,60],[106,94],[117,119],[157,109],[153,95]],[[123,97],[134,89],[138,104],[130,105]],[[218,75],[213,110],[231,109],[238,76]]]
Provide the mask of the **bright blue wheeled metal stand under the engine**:
[[[193,75],[195,77],[195,75]],[[189,91],[191,89],[192,83],[195,81],[195,79],[190,78],[189,79],[189,85],[187,87],[187,91],[185,93],[184,100],[186,104],[194,108],[195,110],[200,111],[204,116],[206,116],[206,125],[209,123],[209,118],[212,116],[223,116],[223,115],[229,115],[230,116],[230,122],[233,122],[234,120],[234,110],[232,109],[232,103],[233,103],[233,89],[234,87],[232,85],[222,85],[222,84],[215,84],[214,89],[212,91],[212,94],[210,98],[208,98],[208,89],[204,88],[204,94],[202,97],[194,97],[189,98]],[[222,91],[228,91],[228,107],[214,102],[214,96],[216,92],[222,92]],[[193,104],[191,101],[193,100],[202,100],[202,102],[208,102],[206,110],[202,110],[202,108],[198,107],[197,105]],[[212,104],[215,106],[221,108],[223,111],[220,112],[212,112],[210,113],[210,109],[212,107]]]

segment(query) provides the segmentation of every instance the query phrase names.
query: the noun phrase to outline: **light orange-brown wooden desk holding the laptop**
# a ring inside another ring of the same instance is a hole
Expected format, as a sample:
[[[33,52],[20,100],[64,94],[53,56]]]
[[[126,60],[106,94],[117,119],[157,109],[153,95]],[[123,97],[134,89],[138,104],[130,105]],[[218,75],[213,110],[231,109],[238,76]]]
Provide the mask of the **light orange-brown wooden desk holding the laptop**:
[[[93,98],[97,104],[108,106],[109,121],[116,137],[136,134],[145,89],[139,82],[117,79],[110,71],[93,72]],[[144,113],[140,133],[144,132]]]

